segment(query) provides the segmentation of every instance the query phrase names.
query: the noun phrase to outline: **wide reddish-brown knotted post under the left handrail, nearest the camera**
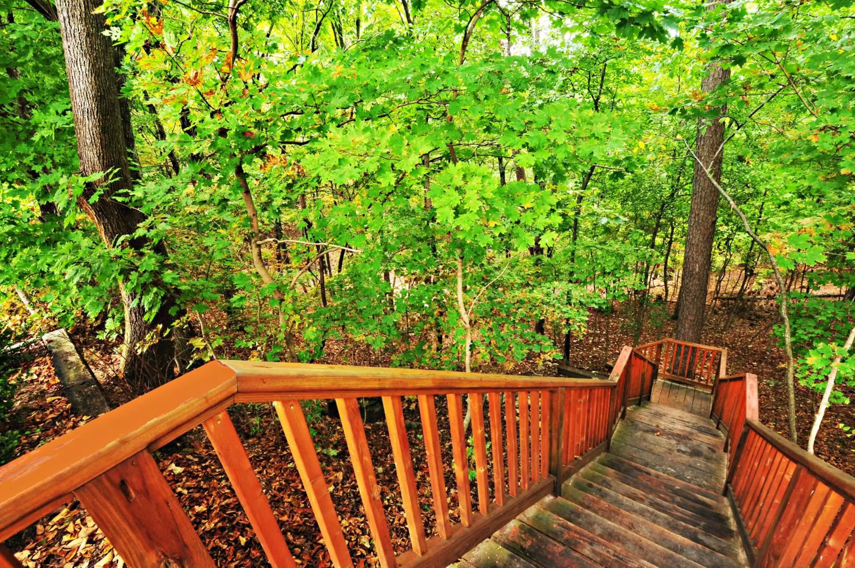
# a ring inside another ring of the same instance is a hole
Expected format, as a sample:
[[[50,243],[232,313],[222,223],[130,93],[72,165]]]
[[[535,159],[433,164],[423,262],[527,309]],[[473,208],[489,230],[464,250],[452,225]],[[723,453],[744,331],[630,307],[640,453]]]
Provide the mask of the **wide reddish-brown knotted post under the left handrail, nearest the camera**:
[[[210,566],[208,549],[151,454],[142,451],[74,491],[128,565]]]

